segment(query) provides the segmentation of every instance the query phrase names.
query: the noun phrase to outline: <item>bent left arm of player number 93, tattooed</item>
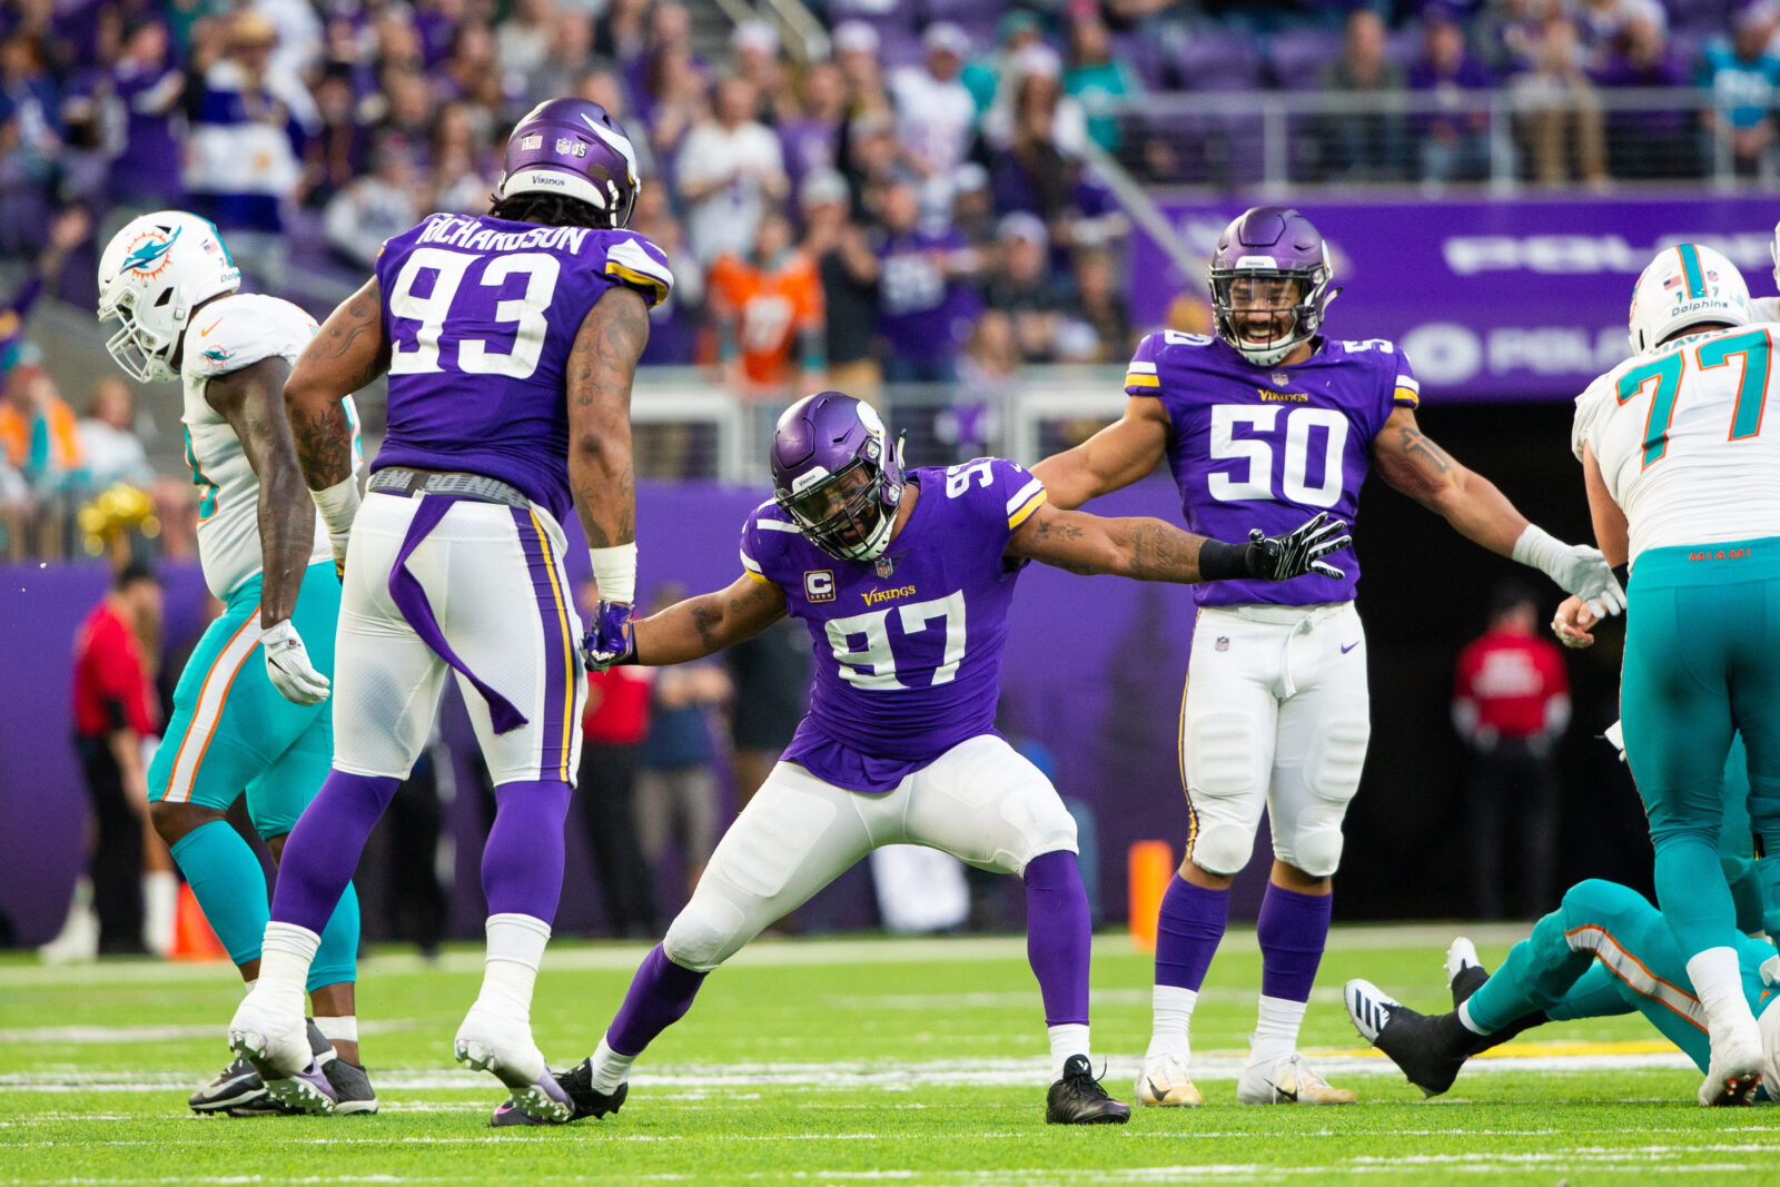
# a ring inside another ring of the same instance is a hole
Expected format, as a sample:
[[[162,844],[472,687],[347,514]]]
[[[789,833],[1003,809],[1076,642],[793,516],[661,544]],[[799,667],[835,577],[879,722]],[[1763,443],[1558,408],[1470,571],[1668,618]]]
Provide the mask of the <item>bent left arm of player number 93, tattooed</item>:
[[[352,422],[340,400],[388,368],[383,299],[372,276],[328,315],[285,381],[290,436],[312,491],[326,491],[352,477]]]

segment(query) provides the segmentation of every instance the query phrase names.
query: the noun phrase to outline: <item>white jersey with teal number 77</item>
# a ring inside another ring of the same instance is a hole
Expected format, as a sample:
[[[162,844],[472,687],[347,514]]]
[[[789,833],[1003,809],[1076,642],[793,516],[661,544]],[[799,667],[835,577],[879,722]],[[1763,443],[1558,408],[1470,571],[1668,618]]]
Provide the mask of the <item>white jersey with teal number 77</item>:
[[[1780,411],[1766,425],[1780,324],[1687,335],[1629,358],[1575,400],[1570,448],[1595,450],[1645,548],[1780,536]]]

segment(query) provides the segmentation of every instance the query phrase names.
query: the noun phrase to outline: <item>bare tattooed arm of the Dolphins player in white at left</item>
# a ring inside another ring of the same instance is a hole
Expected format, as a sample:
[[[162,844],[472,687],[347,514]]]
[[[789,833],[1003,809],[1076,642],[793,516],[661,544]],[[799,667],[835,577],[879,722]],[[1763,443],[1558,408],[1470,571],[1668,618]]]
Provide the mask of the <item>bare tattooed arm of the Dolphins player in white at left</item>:
[[[303,489],[290,422],[278,408],[288,374],[290,365],[274,354],[205,383],[205,402],[228,420],[260,477],[262,628],[283,623],[297,609],[297,589],[315,548],[315,504]]]

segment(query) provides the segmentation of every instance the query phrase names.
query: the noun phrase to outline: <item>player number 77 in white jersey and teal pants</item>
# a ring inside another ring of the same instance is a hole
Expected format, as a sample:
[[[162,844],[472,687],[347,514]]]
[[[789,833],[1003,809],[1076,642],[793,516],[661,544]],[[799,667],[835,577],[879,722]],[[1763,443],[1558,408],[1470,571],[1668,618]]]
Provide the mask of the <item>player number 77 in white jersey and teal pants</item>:
[[[1700,1103],[1741,1103],[1762,1078],[1762,1034],[1743,993],[1736,904],[1719,877],[1723,779],[1734,731],[1748,749],[1748,812],[1780,852],[1780,445],[1762,436],[1773,324],[1750,324],[1736,265],[1711,247],[1664,249],[1632,290],[1634,356],[1577,397],[1572,448],[1595,537],[1632,564],[1620,714],[1645,801],[1655,888],[1711,1030]],[[1586,632],[1566,600],[1554,626]],[[1769,883],[1773,863],[1762,858]]]

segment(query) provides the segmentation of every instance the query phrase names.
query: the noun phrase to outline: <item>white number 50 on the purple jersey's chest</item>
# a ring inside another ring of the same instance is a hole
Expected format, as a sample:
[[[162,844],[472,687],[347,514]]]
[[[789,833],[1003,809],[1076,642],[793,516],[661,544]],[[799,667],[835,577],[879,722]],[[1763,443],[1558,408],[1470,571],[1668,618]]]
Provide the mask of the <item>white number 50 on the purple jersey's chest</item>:
[[[1301,507],[1333,507],[1340,502],[1342,450],[1347,448],[1347,416],[1333,408],[1294,408],[1280,432],[1278,404],[1214,404],[1212,461],[1246,461],[1207,477],[1212,498],[1237,504],[1285,498]],[[1235,436],[1237,427],[1253,436]],[[1310,486],[1310,434],[1323,429],[1323,475]],[[1282,440],[1283,436],[1283,440]],[[1273,491],[1273,454],[1285,454],[1280,466],[1280,493]]]

